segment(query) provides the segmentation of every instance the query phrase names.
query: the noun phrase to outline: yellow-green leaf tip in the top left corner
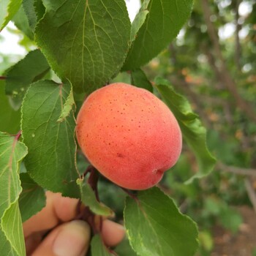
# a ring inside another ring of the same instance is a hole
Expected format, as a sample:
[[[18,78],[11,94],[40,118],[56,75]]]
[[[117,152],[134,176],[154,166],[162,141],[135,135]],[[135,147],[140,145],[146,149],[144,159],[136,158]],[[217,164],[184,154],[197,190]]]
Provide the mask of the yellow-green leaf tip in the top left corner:
[[[0,31],[12,19],[20,8],[22,0],[1,0],[0,5]]]

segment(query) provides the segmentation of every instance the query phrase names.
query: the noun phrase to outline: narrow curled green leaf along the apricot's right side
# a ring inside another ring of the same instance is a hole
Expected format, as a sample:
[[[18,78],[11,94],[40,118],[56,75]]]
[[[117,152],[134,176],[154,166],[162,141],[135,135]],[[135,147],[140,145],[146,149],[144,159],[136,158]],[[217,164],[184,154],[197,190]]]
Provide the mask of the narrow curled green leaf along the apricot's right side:
[[[202,178],[208,175],[216,160],[211,156],[206,146],[206,129],[201,124],[198,116],[192,112],[187,99],[177,94],[167,80],[157,78],[155,83],[167,106],[176,116],[181,127],[182,136],[197,159],[199,170],[192,178],[189,178],[187,183],[192,182],[194,178]]]

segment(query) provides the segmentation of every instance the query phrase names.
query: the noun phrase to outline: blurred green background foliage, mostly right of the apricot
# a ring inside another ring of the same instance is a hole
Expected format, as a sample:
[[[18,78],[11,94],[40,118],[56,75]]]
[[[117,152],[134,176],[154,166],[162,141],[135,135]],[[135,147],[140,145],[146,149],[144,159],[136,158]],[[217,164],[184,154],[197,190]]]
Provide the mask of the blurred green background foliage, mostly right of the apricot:
[[[34,48],[18,29],[9,31],[20,37],[26,51]],[[0,34],[0,45],[2,40]],[[22,58],[0,52],[0,75]],[[187,26],[143,70],[151,81],[157,76],[166,78],[189,99],[208,130],[208,147],[217,158],[208,177],[184,184],[197,170],[192,153],[184,146],[178,164],[159,185],[199,225],[197,255],[255,255],[256,1],[195,1]],[[122,73],[118,80],[129,82],[129,75]],[[0,82],[3,90],[4,81]],[[1,95],[3,102],[11,107]],[[15,129],[17,116],[13,110],[10,123]],[[86,170],[82,158],[78,154],[78,166]],[[102,179],[99,195],[121,219],[124,192]],[[226,246],[226,251],[218,249],[219,245]]]

